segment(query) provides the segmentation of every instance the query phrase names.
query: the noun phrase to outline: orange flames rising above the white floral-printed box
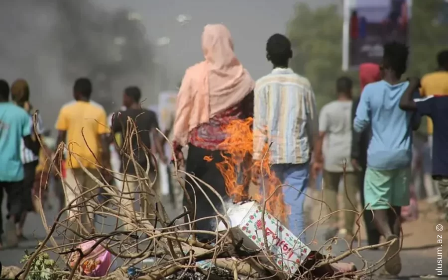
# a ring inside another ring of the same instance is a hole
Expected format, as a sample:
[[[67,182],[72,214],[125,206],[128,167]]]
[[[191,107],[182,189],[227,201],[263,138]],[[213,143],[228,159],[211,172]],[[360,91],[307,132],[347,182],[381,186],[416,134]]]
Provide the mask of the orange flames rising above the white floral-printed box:
[[[224,176],[226,192],[235,202],[242,201],[249,197],[249,185],[255,188],[254,197],[252,199],[262,203],[263,185],[260,180],[263,175],[265,180],[264,197],[269,198],[266,203],[266,210],[277,217],[280,221],[286,222],[289,209],[283,200],[283,192],[280,185],[282,183],[270,171],[269,165],[269,145],[265,146],[264,152],[266,157],[264,160],[252,162],[253,152],[253,119],[233,120],[224,127],[224,131],[228,137],[220,145],[223,152],[223,161],[217,163],[217,168]],[[204,160],[211,161],[210,157]],[[238,178],[238,174],[242,178]],[[272,195],[272,196],[271,196]]]

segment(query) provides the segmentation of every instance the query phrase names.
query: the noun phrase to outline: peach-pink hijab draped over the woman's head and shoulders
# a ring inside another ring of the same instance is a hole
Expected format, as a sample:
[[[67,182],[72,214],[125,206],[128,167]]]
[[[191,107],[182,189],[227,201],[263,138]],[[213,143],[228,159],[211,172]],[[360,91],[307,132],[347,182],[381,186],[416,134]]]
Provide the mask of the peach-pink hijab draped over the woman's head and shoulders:
[[[223,24],[204,27],[202,50],[205,60],[187,69],[177,96],[173,133],[174,141],[181,145],[187,143],[193,128],[239,103],[254,88]]]

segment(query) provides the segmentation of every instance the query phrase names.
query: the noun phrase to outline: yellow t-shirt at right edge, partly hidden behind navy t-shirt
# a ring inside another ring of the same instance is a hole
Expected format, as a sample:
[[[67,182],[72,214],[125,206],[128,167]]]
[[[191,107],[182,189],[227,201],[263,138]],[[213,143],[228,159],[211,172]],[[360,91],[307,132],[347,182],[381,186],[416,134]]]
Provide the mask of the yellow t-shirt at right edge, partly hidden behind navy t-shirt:
[[[448,95],[448,71],[438,71],[423,76],[421,82],[423,96]],[[428,117],[428,134],[433,134],[433,121]]]

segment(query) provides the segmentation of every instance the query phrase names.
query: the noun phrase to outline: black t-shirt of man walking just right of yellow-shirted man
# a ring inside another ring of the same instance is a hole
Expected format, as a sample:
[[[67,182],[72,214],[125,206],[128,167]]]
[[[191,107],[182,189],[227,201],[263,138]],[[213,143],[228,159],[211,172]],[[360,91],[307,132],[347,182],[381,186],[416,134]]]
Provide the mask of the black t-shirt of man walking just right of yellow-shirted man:
[[[129,118],[134,121],[137,133],[135,131],[132,132],[132,125],[128,130],[127,126],[129,123],[127,120]],[[114,118],[112,124],[113,133],[121,132],[121,139],[123,140],[121,142],[122,145],[126,144],[124,143],[124,139],[126,138],[125,134],[130,133],[132,135],[130,144],[132,144],[134,158],[143,169],[147,168],[148,163],[145,156],[145,149],[141,147],[141,145],[145,145],[148,149],[151,149],[151,130],[154,128],[159,128],[157,115],[153,111],[146,109],[127,109],[125,111],[120,111]],[[140,138],[140,143],[138,142],[138,138]],[[129,148],[126,149],[126,152],[128,151]],[[148,158],[150,161],[153,161],[153,159],[151,159],[151,155],[149,154]],[[123,172],[124,170],[126,170],[126,174],[136,174],[132,161],[130,161],[125,155],[122,157],[120,172]]]

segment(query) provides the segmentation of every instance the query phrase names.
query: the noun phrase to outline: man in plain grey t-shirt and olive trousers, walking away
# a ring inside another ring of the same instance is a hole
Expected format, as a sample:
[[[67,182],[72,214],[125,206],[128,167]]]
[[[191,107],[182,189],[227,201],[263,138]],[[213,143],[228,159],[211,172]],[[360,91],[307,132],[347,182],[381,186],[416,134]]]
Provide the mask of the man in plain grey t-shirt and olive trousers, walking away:
[[[353,82],[341,77],[336,82],[337,100],[325,105],[319,117],[319,140],[316,144],[316,156],[313,164],[317,174],[324,168],[324,201],[330,207],[330,213],[337,211],[339,182],[344,181],[343,201],[345,216],[345,239],[351,241],[356,218],[356,193],[358,191],[358,173],[350,161],[351,148],[351,107]],[[324,137],[326,139],[323,147]],[[344,168],[345,164],[345,168]],[[338,228],[336,212],[330,217],[330,228],[326,239],[333,238]]]

